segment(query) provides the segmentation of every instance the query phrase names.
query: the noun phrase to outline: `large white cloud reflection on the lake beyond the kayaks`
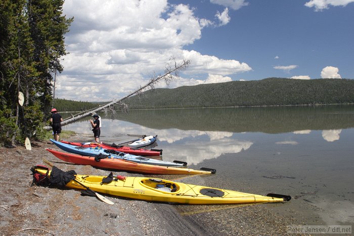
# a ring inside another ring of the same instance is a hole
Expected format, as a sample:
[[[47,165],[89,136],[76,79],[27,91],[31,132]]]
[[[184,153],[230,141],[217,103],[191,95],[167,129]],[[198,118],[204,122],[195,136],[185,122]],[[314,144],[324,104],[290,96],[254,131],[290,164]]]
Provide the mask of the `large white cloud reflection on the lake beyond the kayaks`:
[[[129,122],[117,122],[116,120],[105,120],[102,135],[110,136],[114,132],[117,132],[117,130],[125,134],[155,135],[155,132],[157,132],[158,141],[166,141],[168,144],[174,144],[169,146],[168,150],[164,150],[163,159],[166,161],[186,161],[189,165],[197,165],[203,162],[203,160],[217,158],[225,153],[239,153],[242,150],[249,149],[253,144],[251,141],[233,139],[233,132],[181,129],[155,130]],[[205,136],[208,139],[205,139]]]

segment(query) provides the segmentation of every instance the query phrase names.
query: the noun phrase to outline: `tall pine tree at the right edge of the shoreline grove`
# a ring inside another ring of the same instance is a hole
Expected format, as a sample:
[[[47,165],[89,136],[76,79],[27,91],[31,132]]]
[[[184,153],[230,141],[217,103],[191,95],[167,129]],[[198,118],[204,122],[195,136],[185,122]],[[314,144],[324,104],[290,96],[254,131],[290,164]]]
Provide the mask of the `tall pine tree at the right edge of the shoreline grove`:
[[[63,4],[62,0],[29,0],[27,6],[35,68],[39,73],[34,91],[42,103],[42,112],[47,115],[52,102],[53,74],[63,71],[60,57],[66,55],[64,34],[73,21],[62,16]]]

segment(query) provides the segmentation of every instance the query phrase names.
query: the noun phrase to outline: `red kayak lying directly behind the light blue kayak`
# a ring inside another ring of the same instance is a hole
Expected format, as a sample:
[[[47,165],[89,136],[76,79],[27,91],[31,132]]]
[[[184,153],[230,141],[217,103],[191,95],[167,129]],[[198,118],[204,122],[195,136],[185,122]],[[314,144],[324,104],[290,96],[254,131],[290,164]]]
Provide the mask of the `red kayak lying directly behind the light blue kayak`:
[[[122,152],[122,153],[127,153],[127,154],[133,154],[133,155],[137,155],[137,156],[160,156],[162,155],[162,150],[146,150],[146,149],[132,149],[129,147],[125,147],[125,146],[112,146],[110,144],[100,144],[100,143],[75,143],[75,142],[69,142],[69,141],[64,141],[61,140],[62,143],[64,144],[69,144],[69,145],[73,145],[73,146],[79,146],[79,147],[83,147],[83,148],[96,148],[96,147],[100,147],[103,149],[112,149],[118,152]]]

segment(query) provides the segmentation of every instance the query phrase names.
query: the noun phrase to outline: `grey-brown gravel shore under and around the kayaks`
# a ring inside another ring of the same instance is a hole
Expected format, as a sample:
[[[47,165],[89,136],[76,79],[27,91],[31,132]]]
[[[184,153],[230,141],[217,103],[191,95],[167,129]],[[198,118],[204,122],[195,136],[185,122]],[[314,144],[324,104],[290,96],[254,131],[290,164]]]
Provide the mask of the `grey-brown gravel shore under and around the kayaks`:
[[[67,140],[85,139],[91,140],[82,135]],[[111,206],[69,188],[31,186],[30,168],[43,165],[42,157],[64,171],[109,174],[56,159],[45,150],[56,149],[50,142],[31,144],[31,151],[0,148],[1,235],[284,235],[286,225],[297,224],[294,218],[272,214],[262,204],[190,206],[106,196],[114,202]],[[114,174],[141,176],[120,171]]]

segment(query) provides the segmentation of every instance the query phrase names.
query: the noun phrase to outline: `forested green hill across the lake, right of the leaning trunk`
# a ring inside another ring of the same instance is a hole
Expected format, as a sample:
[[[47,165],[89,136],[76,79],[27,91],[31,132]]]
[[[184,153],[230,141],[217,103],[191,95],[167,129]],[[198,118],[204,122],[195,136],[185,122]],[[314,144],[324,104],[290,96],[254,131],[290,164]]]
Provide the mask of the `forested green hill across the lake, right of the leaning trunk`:
[[[157,88],[125,100],[129,109],[354,103],[352,79],[267,78]]]

